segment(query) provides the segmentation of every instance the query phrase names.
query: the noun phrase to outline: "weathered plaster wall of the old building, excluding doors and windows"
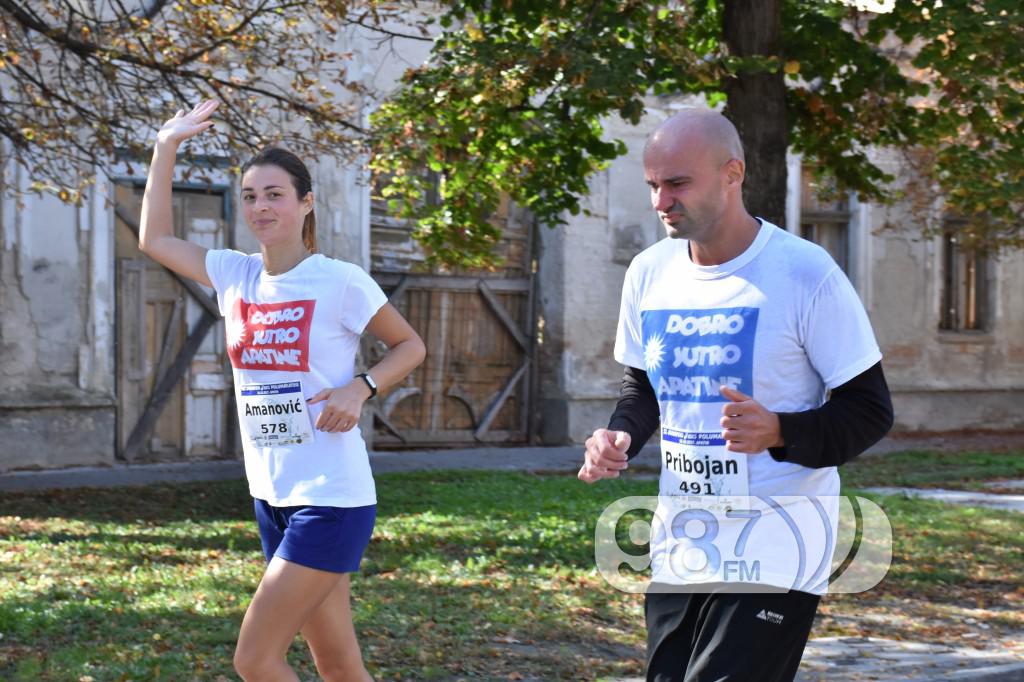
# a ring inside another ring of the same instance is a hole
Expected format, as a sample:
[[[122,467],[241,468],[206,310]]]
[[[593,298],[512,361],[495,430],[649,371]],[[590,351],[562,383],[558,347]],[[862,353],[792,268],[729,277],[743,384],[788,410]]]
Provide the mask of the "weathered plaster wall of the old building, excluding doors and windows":
[[[357,32],[341,40],[355,55],[350,75],[379,93],[393,87],[404,69],[421,63],[430,47],[419,41],[379,44]],[[356,103],[366,121],[377,100]],[[590,215],[541,229],[536,408],[547,442],[582,441],[606,424],[617,395],[622,368],[612,346],[623,276],[632,257],[664,233],[649,205],[641,150],[647,133],[680,104],[648,103],[650,113],[640,126],[606,122],[609,137],[625,140],[629,153],[594,178],[585,200]],[[365,161],[310,166],[322,251],[369,268]],[[795,164],[799,170],[799,160]],[[4,188],[27,184],[12,165],[4,168]],[[236,185],[230,188],[234,198]],[[45,197],[28,197],[24,206],[6,195],[0,202],[0,471],[114,462],[110,191],[101,182],[83,207]],[[851,279],[886,357],[897,429],[1024,428],[1024,411],[1017,408],[1024,398],[1024,254],[1007,255],[989,271],[993,324],[988,331],[940,332],[938,243],[919,239],[918,218],[899,207],[859,207],[856,215]],[[886,223],[902,230],[879,231]],[[796,224],[791,219],[790,227]],[[230,229],[228,243],[258,251],[239,211]],[[198,309],[189,305],[189,321],[196,315]],[[209,418],[216,410],[197,407],[197,396],[214,399],[222,388],[216,383],[221,345],[208,339],[189,375],[189,443],[221,441],[218,423]]]

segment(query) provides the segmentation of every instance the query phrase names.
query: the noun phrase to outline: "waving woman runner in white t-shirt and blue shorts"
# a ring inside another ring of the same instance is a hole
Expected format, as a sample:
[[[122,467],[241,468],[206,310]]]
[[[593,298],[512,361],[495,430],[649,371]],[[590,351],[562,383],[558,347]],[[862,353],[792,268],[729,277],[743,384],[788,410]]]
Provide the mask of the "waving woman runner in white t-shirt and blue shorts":
[[[357,423],[367,399],[423,361],[423,341],[361,268],[316,253],[309,171],[289,152],[264,150],[243,167],[242,214],[260,253],[174,237],[177,148],[213,126],[216,109],[208,100],[178,112],[158,132],[139,248],[213,287],[225,317],[246,477],[267,560],[234,668],[247,682],[298,680],[285,656],[301,632],[325,680],[371,680],[349,608],[348,573],[370,542],[377,503]],[[355,375],[364,330],[388,353]]]

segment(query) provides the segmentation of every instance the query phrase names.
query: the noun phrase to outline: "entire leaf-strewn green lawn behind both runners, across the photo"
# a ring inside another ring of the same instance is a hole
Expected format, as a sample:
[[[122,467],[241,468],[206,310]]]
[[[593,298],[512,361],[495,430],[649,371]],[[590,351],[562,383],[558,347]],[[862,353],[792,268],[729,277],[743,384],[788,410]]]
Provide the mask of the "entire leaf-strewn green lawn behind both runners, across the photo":
[[[971,482],[1024,474],[1020,453],[957,457],[872,458],[850,465],[847,479],[896,484],[942,467]],[[377,530],[352,581],[371,672],[382,680],[640,673],[642,601],[595,572],[593,528],[613,500],[654,488],[637,478],[587,486],[573,476],[496,472],[378,477]],[[1020,637],[1024,515],[873,499],[896,535],[893,568],[868,593],[826,600],[815,636]],[[237,679],[234,637],[262,571],[251,516],[240,481],[5,494],[0,679]],[[304,646],[293,647],[292,663],[315,678]]]

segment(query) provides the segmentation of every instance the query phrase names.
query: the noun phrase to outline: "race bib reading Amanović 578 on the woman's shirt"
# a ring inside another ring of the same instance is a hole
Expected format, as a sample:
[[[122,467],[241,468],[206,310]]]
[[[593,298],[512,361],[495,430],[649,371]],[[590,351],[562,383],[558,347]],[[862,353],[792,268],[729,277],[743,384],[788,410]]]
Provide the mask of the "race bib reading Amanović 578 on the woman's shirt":
[[[293,445],[313,439],[302,384],[248,384],[239,395],[242,435],[254,447]]]

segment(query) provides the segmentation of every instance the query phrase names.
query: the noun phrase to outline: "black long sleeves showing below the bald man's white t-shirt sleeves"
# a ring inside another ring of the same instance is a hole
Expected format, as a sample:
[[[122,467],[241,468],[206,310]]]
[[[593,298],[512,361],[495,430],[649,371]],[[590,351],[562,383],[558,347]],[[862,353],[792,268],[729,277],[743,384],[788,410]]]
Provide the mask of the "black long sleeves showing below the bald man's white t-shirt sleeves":
[[[776,414],[784,444],[770,447],[769,454],[779,462],[812,469],[849,462],[881,440],[893,425],[892,398],[882,363],[833,389],[820,408]],[[657,395],[647,373],[626,368],[608,428],[630,434],[630,459],[654,433],[659,420]]]

